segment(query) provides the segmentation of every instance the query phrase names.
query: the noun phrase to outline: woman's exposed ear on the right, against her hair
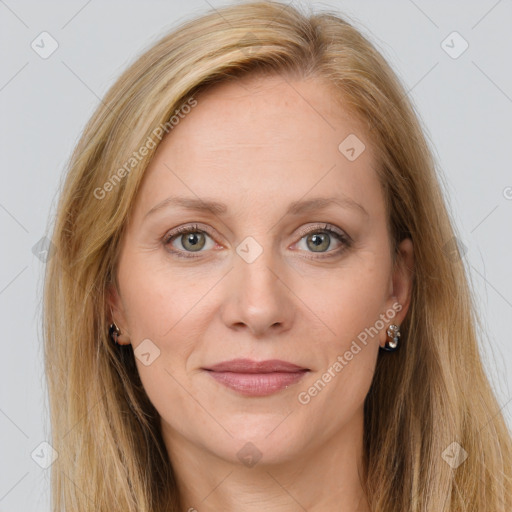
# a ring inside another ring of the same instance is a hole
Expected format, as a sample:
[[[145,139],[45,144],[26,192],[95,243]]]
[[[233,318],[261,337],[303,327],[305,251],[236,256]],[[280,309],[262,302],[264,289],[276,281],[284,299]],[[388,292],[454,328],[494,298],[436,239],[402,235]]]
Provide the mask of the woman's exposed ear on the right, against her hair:
[[[403,322],[411,303],[413,282],[414,246],[410,238],[405,238],[398,245],[390,279],[387,307],[396,311],[396,315],[389,324],[400,325]],[[382,331],[384,339],[381,340],[381,345],[386,341],[386,329]]]

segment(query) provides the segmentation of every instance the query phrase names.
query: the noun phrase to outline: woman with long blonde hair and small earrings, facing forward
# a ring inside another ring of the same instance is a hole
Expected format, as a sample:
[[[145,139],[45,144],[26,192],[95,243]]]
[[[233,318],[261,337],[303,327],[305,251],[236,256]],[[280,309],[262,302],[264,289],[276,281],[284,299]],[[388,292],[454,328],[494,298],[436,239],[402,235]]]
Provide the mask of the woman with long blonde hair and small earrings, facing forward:
[[[255,2],[163,38],[58,206],[53,510],[511,510],[454,240],[407,95],[346,21]]]

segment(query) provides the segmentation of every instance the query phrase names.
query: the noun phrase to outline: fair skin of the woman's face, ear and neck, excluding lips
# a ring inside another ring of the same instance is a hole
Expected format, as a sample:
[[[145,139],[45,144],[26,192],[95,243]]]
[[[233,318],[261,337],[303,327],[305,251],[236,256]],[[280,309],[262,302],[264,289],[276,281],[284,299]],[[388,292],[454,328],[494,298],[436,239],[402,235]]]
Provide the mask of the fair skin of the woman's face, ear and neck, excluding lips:
[[[160,351],[147,366],[136,362],[161,416],[182,509],[367,512],[363,403],[386,327],[407,314],[414,263],[407,239],[393,265],[370,140],[317,78],[253,76],[197,100],[146,171],[111,290],[123,343],[136,350],[149,339]],[[349,134],[366,145],[353,161],[338,149]],[[146,215],[169,196],[215,200],[226,211],[168,205]],[[286,213],[292,202],[328,197],[360,206]],[[190,235],[165,245],[166,234],[191,224],[200,250]],[[350,242],[326,234],[326,224]],[[262,250],[250,263],[237,253],[246,237],[257,246],[241,247]],[[301,403],[379,318],[378,335]],[[202,370],[234,358],[310,371],[287,389],[248,397]],[[239,458],[244,446],[261,455],[256,464]]]

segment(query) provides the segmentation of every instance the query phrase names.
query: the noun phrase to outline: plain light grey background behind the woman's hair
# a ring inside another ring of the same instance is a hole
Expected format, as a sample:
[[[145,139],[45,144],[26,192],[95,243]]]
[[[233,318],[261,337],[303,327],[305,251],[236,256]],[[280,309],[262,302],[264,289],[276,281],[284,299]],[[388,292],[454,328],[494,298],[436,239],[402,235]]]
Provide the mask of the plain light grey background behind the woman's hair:
[[[45,235],[66,162],[127,64],[178,22],[225,3],[0,0],[0,512],[49,510],[50,470],[31,458],[49,431],[40,336],[44,264],[32,249]],[[310,3],[348,15],[409,90],[467,248],[464,264],[487,333],[485,362],[512,426],[512,3]],[[43,31],[59,45],[47,59],[31,48],[34,40],[42,46]],[[458,36],[446,39],[453,31],[469,44],[458,58],[445,51],[463,48]]]

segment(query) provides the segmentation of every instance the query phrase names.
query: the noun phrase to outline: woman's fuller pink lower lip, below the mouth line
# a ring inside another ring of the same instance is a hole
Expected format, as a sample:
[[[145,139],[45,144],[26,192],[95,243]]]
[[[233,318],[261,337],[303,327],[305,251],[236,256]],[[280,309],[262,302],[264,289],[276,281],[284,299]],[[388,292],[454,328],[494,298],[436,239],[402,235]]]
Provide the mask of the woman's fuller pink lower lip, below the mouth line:
[[[246,396],[266,396],[298,382],[307,371],[271,373],[208,373],[221,384]]]

